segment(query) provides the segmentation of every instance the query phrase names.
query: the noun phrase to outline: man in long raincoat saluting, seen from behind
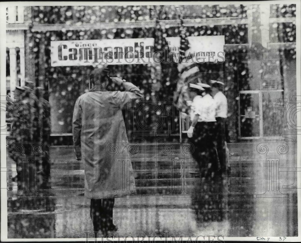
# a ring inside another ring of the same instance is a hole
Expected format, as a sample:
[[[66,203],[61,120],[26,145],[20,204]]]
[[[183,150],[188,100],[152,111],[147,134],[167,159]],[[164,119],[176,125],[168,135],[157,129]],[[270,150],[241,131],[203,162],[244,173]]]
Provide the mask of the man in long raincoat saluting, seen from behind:
[[[106,66],[96,68],[90,76],[93,88],[81,95],[73,112],[73,142],[76,159],[85,161],[85,197],[91,199],[90,215],[94,232],[105,235],[116,231],[113,224],[114,195],[116,192],[116,156],[107,146],[116,143],[123,151],[128,142],[122,108],[132,98],[141,98],[140,90],[117,77],[110,78]],[[110,82],[126,90],[107,91]],[[111,197],[111,198],[110,198]]]

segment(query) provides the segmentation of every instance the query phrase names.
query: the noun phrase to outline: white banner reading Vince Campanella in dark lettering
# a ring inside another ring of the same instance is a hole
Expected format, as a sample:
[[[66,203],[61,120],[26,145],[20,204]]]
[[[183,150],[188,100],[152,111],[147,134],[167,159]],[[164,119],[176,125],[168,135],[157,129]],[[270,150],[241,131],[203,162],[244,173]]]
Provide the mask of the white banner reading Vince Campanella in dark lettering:
[[[152,63],[154,38],[51,41],[51,66]]]

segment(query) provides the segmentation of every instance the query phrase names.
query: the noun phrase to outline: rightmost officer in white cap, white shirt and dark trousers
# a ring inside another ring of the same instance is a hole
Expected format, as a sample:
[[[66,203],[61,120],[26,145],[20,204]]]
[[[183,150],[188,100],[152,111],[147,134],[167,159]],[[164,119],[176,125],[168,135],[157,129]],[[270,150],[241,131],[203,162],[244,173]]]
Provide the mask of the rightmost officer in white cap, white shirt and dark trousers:
[[[222,93],[224,83],[210,80],[213,98],[216,103],[216,148],[222,173],[227,170],[226,118],[228,112],[227,98]]]

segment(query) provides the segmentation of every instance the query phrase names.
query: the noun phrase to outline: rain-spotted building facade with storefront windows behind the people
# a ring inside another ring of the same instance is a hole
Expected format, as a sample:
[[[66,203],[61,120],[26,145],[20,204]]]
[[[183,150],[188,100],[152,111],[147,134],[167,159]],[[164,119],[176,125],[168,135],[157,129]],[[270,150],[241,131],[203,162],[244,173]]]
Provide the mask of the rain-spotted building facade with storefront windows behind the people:
[[[73,107],[89,88],[92,66],[52,67],[51,41],[150,37],[158,50],[180,27],[188,36],[225,36],[225,61],[202,63],[199,69],[204,80],[225,83],[231,141],[277,138],[294,126],[278,106],[296,101],[296,5],[8,7],[7,90],[13,97],[16,86],[43,87],[52,136],[70,137]],[[115,65],[111,71],[144,95],[172,101],[175,64]],[[169,135],[178,140],[178,111],[172,119]]]

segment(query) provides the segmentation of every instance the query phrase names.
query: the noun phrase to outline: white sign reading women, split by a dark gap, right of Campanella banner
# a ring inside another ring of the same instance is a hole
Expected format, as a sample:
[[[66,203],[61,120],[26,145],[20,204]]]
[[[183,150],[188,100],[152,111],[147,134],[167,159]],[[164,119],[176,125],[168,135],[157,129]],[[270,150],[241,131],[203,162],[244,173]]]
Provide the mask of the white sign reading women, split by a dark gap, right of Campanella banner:
[[[188,36],[187,39],[190,49],[185,52],[185,57],[190,61],[199,63],[225,61],[225,36]],[[166,37],[175,62],[178,62],[179,58],[180,40],[180,37]]]

